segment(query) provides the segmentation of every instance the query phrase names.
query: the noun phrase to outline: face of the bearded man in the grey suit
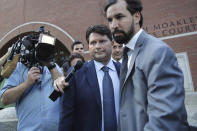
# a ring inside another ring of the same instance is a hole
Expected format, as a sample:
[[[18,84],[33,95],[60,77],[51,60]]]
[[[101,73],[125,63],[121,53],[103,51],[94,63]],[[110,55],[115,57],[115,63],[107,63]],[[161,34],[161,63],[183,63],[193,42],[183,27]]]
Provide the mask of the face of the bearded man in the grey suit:
[[[127,43],[134,35],[134,17],[127,10],[125,1],[118,1],[106,11],[113,38],[119,44]]]

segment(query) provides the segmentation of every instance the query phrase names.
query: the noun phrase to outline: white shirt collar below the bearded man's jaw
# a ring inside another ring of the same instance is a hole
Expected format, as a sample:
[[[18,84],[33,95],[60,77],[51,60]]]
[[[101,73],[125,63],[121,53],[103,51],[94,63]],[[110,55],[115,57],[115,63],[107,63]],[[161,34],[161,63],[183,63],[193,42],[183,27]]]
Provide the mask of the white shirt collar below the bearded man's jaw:
[[[128,47],[130,50],[134,50],[137,39],[139,38],[140,34],[142,33],[143,29],[140,29],[132,38],[131,40],[128,42],[128,44],[126,44],[125,46]]]

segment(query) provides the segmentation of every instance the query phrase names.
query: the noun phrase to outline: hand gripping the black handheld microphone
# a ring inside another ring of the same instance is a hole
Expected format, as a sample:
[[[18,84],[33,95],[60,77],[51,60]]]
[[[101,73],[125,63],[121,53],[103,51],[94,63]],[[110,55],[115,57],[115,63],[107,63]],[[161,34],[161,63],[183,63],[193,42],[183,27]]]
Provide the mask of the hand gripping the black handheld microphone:
[[[69,84],[67,82],[65,82],[65,77],[61,76],[58,77],[55,81],[54,81],[54,89],[58,92],[64,93],[64,88],[67,87]]]

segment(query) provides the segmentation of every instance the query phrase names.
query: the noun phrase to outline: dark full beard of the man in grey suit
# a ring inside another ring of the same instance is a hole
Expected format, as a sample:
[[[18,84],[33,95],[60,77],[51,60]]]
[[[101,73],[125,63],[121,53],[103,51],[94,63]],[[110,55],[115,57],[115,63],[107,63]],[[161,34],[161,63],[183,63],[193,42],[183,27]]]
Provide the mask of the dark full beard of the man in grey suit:
[[[121,35],[115,35],[120,33]],[[134,27],[131,25],[130,30],[126,33],[123,30],[118,30],[117,28],[112,33],[114,40],[119,44],[126,44],[133,37]]]

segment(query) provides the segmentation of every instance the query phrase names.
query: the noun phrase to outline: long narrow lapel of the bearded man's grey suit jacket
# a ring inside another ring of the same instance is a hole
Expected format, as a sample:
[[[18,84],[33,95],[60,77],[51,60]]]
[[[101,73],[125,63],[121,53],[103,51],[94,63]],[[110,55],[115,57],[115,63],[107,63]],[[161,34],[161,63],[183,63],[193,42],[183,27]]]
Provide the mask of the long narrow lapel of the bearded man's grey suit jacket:
[[[123,82],[123,84],[122,84],[122,86],[121,86],[121,89],[123,88],[123,86],[124,86],[125,82],[127,81],[128,77],[129,77],[129,75],[130,75],[130,73],[132,72],[132,69],[133,69],[133,67],[134,67],[134,63],[135,63],[136,57],[137,57],[137,55],[139,54],[140,49],[141,49],[141,47],[142,47],[142,45],[143,45],[144,35],[145,35],[145,34],[144,34],[144,31],[143,31],[143,32],[140,34],[140,36],[139,36],[139,38],[138,38],[138,40],[137,40],[137,43],[136,43],[136,45],[135,45],[134,52],[133,52],[133,54],[132,54],[132,59],[131,59],[131,62],[130,62],[130,66],[129,66],[129,68],[128,68],[128,71],[127,71],[125,80],[124,80],[124,82]]]

